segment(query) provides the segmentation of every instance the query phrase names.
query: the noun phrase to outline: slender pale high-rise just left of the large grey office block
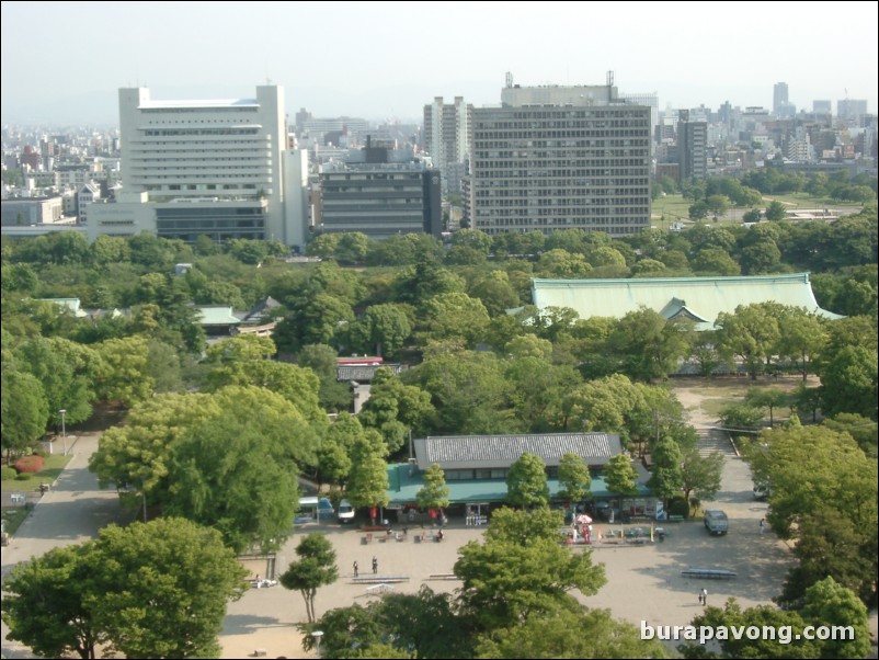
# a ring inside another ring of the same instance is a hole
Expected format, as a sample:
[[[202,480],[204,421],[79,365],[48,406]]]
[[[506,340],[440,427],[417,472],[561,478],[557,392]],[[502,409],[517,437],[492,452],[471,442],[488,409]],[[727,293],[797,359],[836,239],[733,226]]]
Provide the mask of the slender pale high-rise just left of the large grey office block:
[[[436,96],[424,106],[423,148],[443,178],[443,192],[460,193],[470,156],[470,122],[473,106],[455,96],[455,103],[443,103]]]

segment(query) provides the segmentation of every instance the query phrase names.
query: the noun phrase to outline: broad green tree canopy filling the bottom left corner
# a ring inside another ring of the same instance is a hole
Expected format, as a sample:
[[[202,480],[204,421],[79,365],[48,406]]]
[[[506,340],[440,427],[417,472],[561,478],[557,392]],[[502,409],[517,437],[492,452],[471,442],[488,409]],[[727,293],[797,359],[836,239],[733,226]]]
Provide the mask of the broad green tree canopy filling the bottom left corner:
[[[111,525],[16,566],[3,621],[11,639],[46,657],[95,658],[99,646],[127,658],[215,657],[246,573],[213,530],[179,519]]]

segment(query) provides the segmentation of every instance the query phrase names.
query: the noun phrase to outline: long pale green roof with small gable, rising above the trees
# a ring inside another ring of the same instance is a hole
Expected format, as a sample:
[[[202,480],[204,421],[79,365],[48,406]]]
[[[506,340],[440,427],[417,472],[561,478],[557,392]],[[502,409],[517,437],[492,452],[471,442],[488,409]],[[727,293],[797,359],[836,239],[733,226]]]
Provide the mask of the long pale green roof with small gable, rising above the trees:
[[[666,319],[685,317],[699,330],[714,327],[720,312],[739,305],[779,303],[824,318],[840,315],[819,307],[809,273],[741,277],[644,277],[633,280],[532,280],[538,309],[570,307],[581,319],[623,318],[647,307]]]

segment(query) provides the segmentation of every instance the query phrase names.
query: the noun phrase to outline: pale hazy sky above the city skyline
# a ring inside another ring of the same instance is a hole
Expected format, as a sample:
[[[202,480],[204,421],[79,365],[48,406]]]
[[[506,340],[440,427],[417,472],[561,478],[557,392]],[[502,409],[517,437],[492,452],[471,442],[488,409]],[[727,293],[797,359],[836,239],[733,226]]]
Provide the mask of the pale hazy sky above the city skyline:
[[[876,1],[2,2],[8,123],[118,123],[117,90],[153,99],[285,88],[287,113],[420,121],[434,96],[477,106],[514,82],[604,84],[660,107],[772,109],[788,83],[877,106]]]

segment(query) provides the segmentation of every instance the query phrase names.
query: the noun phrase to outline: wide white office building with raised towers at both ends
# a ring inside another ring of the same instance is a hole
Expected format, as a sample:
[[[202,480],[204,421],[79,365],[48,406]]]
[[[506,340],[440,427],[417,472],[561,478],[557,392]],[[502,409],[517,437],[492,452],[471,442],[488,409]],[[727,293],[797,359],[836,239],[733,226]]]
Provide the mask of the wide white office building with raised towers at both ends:
[[[90,237],[124,235],[128,225],[187,242],[207,235],[301,244],[305,218],[284,204],[283,88],[224,101],[159,101],[146,88],[121,89],[119,128],[124,200],[148,212],[106,205]]]

